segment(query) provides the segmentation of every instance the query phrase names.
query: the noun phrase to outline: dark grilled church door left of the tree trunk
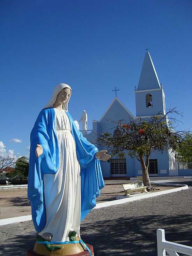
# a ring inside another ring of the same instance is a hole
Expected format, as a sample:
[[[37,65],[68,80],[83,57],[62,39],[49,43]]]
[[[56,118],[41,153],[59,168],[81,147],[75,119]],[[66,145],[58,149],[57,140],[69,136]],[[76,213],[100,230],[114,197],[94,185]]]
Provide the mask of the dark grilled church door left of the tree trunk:
[[[127,166],[126,166],[126,158],[120,159],[115,158],[111,159],[111,176],[126,176],[127,174]]]

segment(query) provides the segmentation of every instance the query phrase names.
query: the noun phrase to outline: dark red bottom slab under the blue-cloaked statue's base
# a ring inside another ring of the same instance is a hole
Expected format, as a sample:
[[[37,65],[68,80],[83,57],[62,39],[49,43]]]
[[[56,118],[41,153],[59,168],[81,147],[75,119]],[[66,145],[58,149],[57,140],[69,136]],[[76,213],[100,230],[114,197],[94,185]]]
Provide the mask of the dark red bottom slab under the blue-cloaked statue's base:
[[[89,250],[91,251],[91,255],[94,256],[93,246],[90,244],[86,244],[86,245],[89,248]],[[90,256],[89,251],[84,251],[84,250],[79,253],[73,253],[73,250],[72,250],[71,252],[68,252],[67,254],[65,254],[65,253],[63,254],[60,250],[49,251],[49,252],[47,251],[46,254],[36,253],[33,249],[31,249],[27,252],[27,256],[47,256],[47,255],[49,255],[49,256]]]

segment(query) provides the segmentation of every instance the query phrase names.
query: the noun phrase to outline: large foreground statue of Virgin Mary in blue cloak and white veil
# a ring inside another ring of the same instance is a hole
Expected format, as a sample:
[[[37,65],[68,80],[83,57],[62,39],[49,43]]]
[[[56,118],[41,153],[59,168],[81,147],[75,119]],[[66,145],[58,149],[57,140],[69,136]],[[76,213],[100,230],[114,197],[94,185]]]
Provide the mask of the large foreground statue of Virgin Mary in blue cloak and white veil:
[[[68,112],[72,89],[61,83],[31,131],[28,198],[39,236],[53,243],[80,238],[80,220],[96,206],[104,187],[100,160],[107,151],[83,137]],[[75,239],[76,240],[76,239]]]

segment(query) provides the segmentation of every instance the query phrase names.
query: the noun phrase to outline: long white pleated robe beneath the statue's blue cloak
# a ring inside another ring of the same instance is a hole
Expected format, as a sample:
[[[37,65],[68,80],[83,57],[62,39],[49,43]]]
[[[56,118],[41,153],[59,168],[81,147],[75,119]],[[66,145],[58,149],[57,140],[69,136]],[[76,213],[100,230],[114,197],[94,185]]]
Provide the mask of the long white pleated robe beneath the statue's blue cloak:
[[[69,231],[80,237],[81,181],[76,145],[65,110],[54,108],[60,165],[56,174],[44,175],[46,225],[39,235],[51,233],[52,241],[69,241]]]

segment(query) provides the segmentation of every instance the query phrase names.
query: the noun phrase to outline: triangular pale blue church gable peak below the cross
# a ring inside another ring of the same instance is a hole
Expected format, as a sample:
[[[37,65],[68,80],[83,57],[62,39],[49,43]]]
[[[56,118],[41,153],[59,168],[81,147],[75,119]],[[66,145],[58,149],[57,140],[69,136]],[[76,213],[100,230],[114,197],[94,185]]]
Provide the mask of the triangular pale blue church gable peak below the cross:
[[[99,123],[106,122],[106,119],[110,120],[121,120],[124,119],[128,122],[130,119],[133,119],[133,114],[121,103],[118,98],[115,98],[106,112],[103,114]]]

